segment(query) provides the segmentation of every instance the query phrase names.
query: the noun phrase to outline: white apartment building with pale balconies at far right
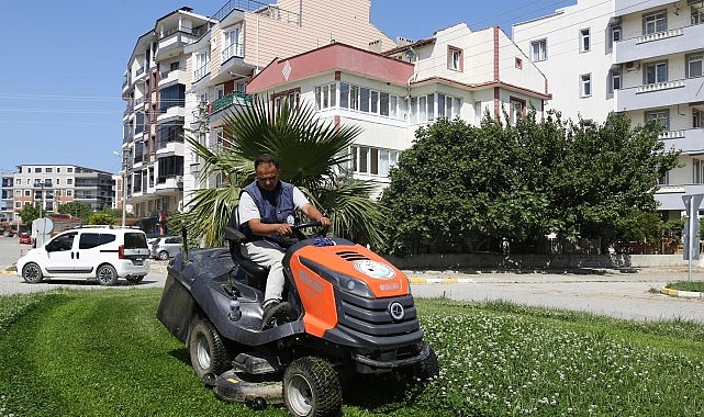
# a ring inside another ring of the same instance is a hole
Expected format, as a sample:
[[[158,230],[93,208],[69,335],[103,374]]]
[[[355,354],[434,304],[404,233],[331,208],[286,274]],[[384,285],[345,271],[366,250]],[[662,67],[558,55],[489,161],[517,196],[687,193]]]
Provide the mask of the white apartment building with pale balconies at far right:
[[[679,218],[682,195],[704,193],[704,2],[579,0],[513,27],[514,42],[547,76],[547,109],[603,122],[660,120],[666,148],[682,167],[660,179],[663,218]]]

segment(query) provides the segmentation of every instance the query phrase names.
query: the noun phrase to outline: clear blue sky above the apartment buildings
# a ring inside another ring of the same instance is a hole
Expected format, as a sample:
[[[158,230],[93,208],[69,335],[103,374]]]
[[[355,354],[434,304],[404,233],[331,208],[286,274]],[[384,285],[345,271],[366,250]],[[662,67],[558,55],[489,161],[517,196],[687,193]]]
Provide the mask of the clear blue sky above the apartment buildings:
[[[261,0],[272,3],[273,0]],[[465,22],[511,26],[573,0],[372,0],[371,23],[420,40]],[[77,165],[116,173],[123,75],[137,38],[188,5],[213,15],[227,0],[0,1],[0,172],[19,165]]]

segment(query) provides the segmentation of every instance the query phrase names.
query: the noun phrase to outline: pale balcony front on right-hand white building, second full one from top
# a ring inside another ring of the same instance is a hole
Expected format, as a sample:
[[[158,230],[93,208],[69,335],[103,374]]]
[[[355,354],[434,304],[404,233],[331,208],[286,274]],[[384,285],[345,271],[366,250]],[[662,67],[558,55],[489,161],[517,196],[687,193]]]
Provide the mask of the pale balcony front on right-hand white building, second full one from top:
[[[634,111],[699,102],[702,101],[702,77],[688,78],[616,90],[615,109]]]

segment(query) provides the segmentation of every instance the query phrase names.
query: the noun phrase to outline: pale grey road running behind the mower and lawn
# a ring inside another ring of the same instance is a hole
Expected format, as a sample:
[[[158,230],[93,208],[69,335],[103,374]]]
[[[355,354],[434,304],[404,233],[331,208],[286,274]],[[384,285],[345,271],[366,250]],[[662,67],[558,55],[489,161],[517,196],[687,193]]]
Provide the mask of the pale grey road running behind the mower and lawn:
[[[0,237],[0,271],[29,250],[16,237]],[[120,280],[118,288],[163,288],[165,261],[153,261],[149,274],[137,285]],[[417,279],[460,279],[460,283],[413,283],[415,297],[446,296],[463,301],[507,301],[524,305],[590,312],[616,318],[657,320],[688,319],[704,323],[704,298],[675,297],[653,292],[668,282],[688,280],[686,268],[640,269],[630,273],[458,273],[409,271]],[[704,281],[704,269],[695,267],[693,280]],[[421,280],[422,281],[422,280]],[[427,280],[426,280],[427,281]],[[48,291],[57,288],[100,290],[96,282],[51,280],[27,284],[14,274],[0,275],[0,294]]]

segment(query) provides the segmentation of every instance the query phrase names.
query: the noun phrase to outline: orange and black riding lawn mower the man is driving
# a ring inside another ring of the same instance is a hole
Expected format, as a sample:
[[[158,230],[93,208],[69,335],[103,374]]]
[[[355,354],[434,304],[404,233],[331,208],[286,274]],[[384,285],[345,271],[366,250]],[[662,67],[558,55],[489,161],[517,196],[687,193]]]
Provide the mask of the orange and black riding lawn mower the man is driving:
[[[219,398],[335,416],[347,377],[382,375],[409,387],[439,373],[409,279],[379,255],[326,237],[317,222],[292,226],[298,243],[282,262],[287,308],[262,323],[268,270],[241,253],[244,235],[232,226],[230,248],[185,249],[171,260],[157,311]],[[314,227],[321,232],[302,232]]]

